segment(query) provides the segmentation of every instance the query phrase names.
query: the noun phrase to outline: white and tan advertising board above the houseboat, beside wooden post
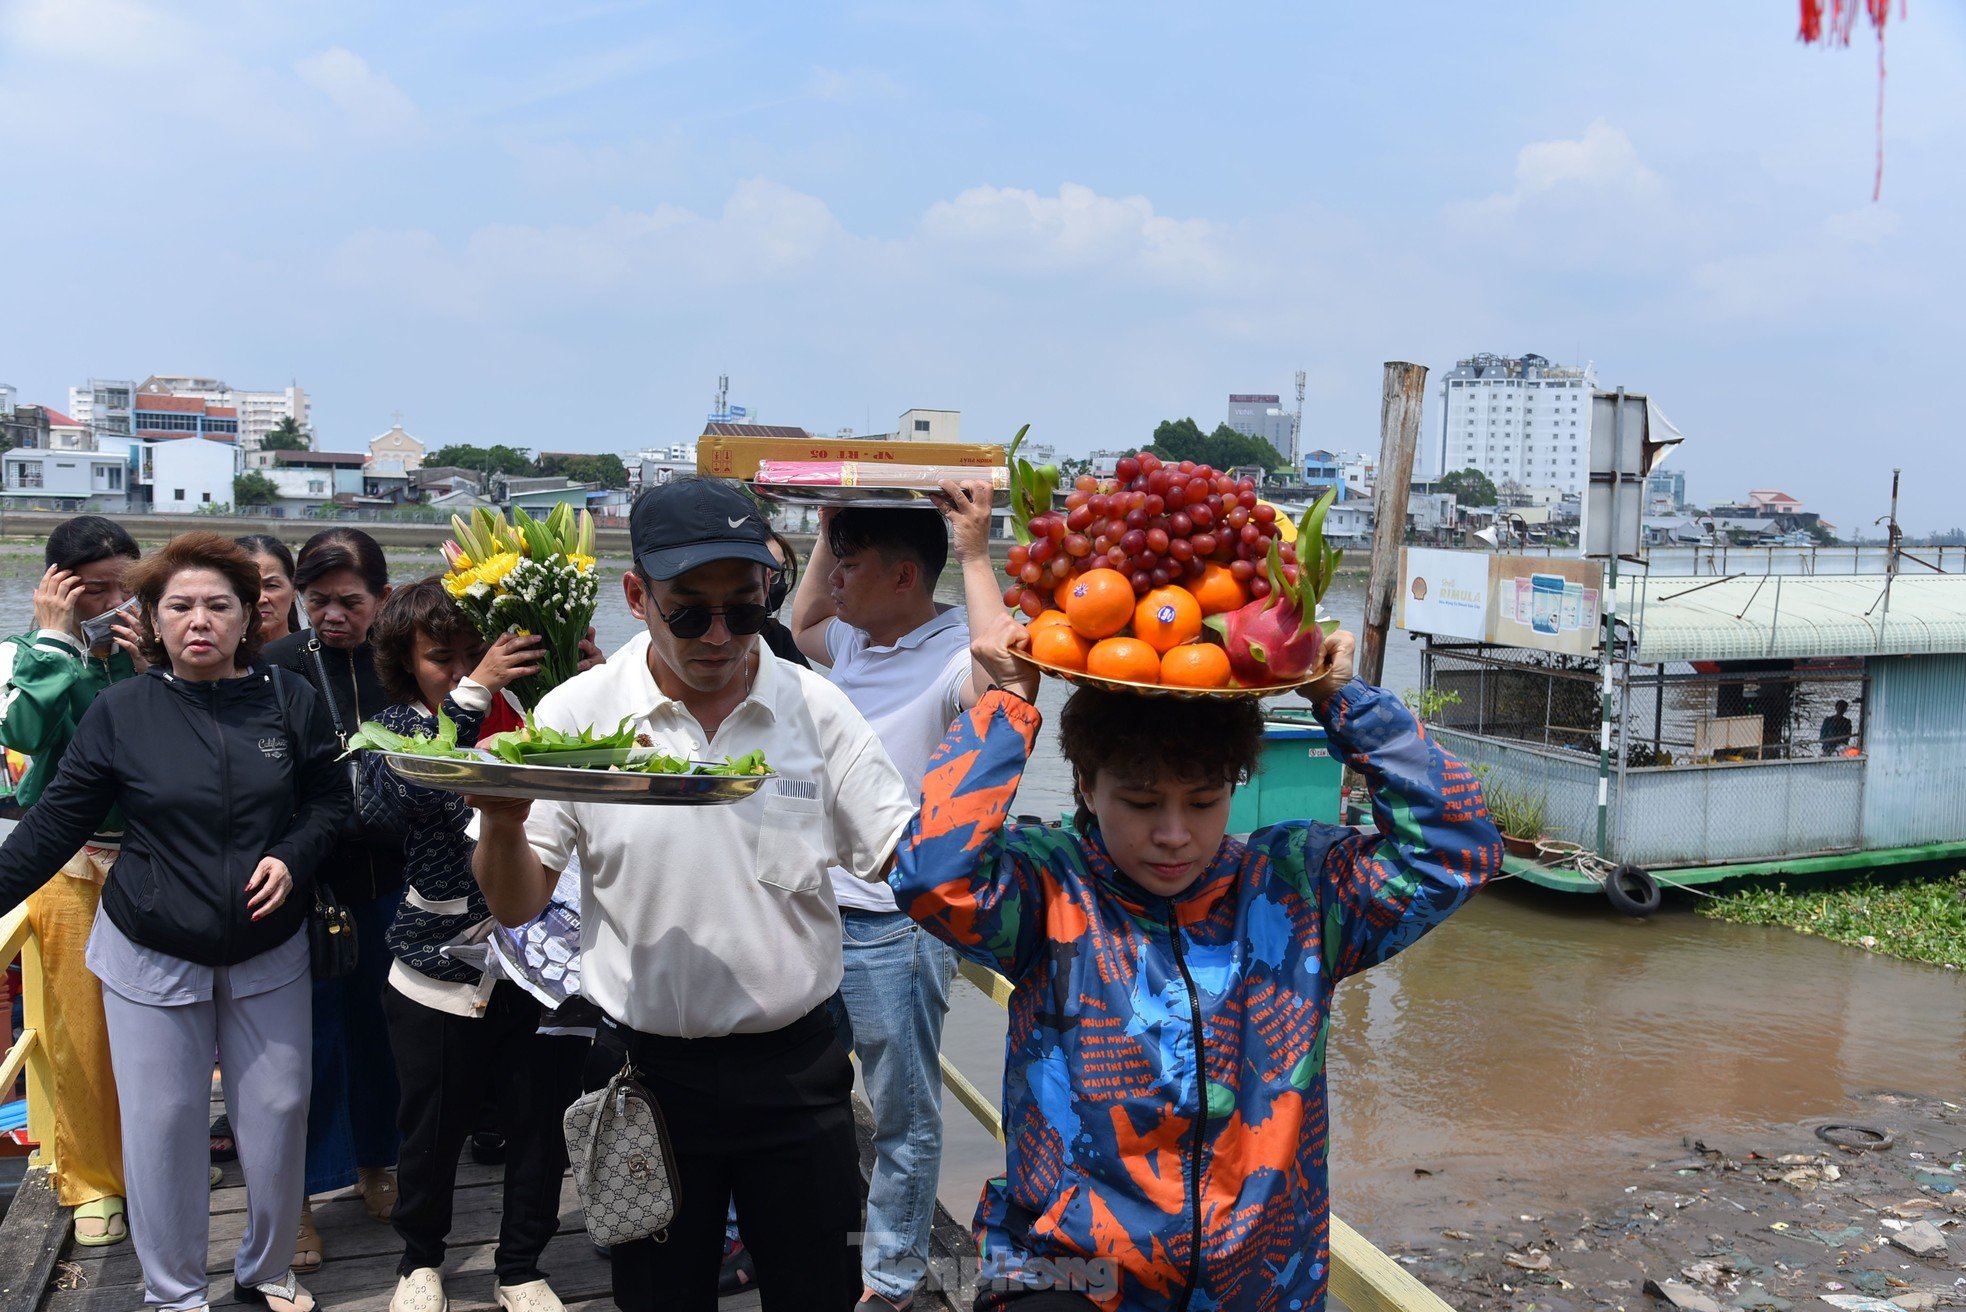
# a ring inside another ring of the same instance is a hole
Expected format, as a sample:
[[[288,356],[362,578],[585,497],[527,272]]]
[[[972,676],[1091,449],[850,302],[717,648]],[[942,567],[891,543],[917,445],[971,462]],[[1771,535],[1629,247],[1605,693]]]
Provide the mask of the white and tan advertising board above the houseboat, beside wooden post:
[[[1596,561],[1410,547],[1396,624],[1416,633],[1589,655],[1602,614]]]

